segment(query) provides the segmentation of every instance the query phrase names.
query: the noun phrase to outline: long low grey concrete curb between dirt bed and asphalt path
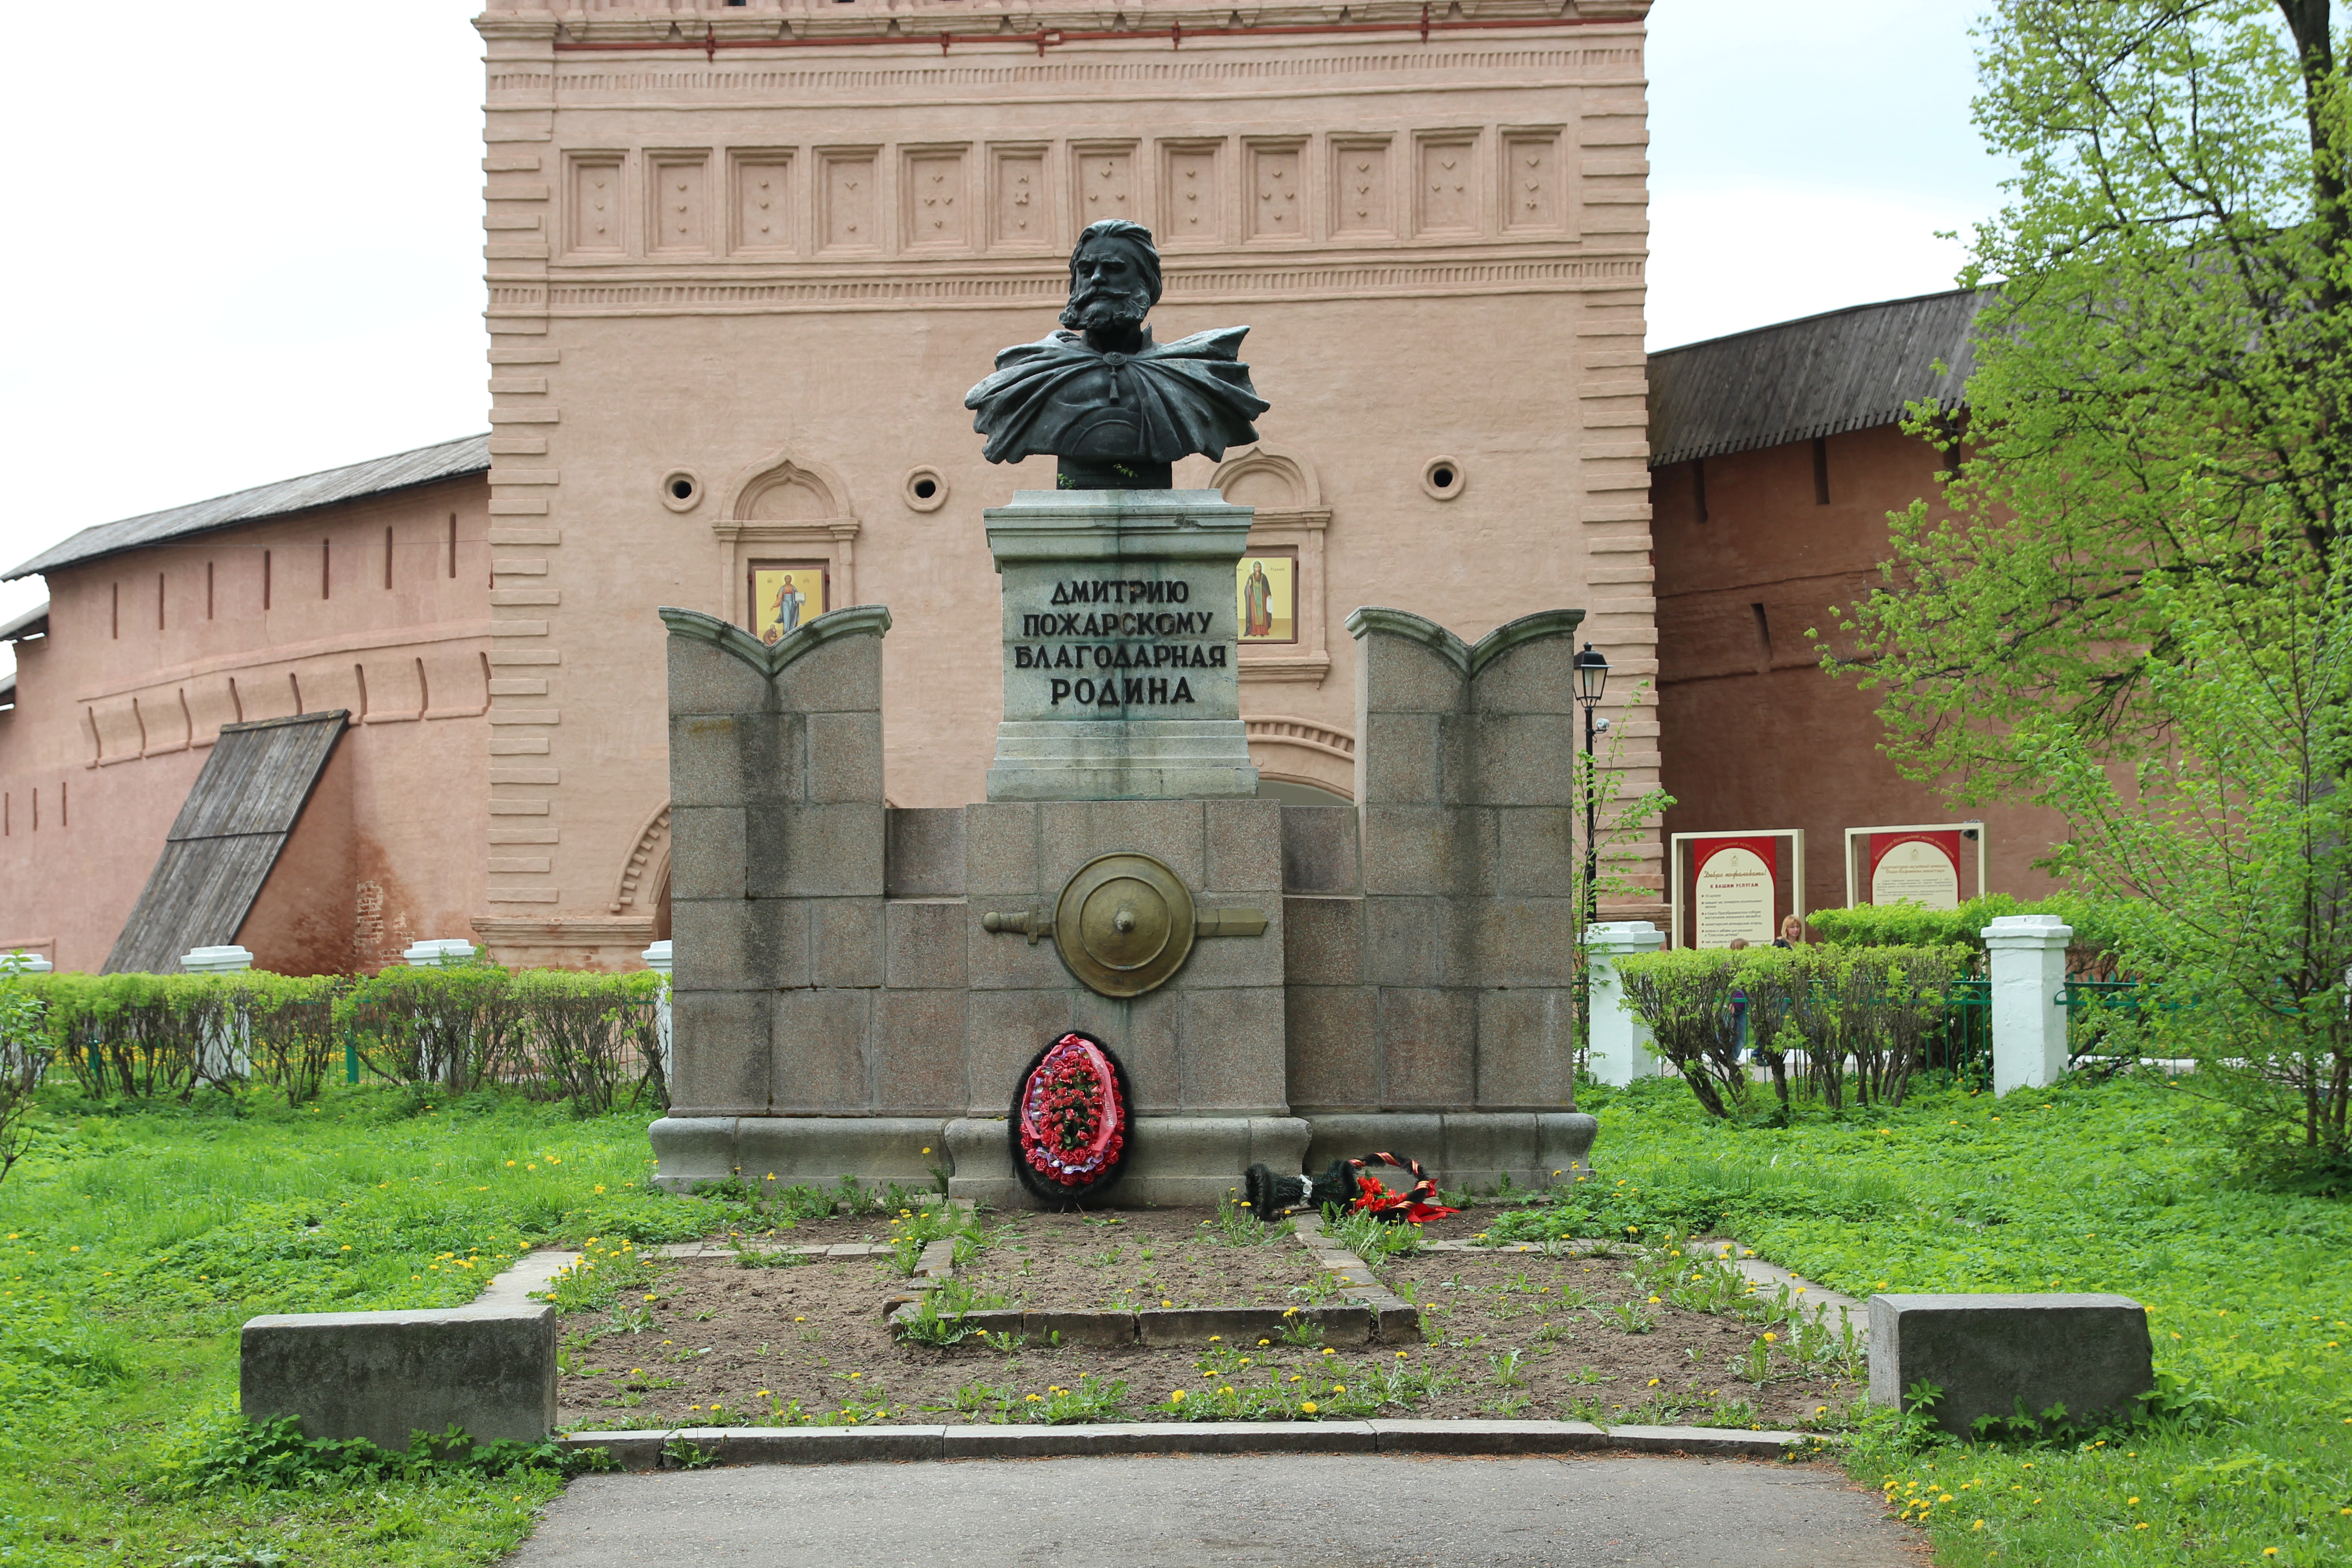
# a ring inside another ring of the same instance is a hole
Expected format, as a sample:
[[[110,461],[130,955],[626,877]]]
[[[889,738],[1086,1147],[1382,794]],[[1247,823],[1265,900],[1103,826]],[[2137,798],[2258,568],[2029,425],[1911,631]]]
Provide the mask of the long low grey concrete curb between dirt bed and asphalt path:
[[[623,1469],[680,1469],[682,1439],[720,1465],[870,1460],[1070,1460],[1174,1453],[1686,1453],[1804,1458],[1837,1443],[1806,1432],[1736,1427],[1595,1427],[1581,1420],[1103,1422],[1089,1427],[675,1427],[569,1432],[567,1450],[602,1448]],[[1795,1450],[1795,1453],[1792,1453]]]

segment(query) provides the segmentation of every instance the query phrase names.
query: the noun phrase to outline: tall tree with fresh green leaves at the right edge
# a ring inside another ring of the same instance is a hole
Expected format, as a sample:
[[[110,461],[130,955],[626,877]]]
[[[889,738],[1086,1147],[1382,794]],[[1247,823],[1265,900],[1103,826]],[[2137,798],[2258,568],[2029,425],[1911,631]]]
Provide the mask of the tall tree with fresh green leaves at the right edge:
[[[1943,512],[1893,520],[1842,668],[1896,759],[2065,811],[2143,1023],[2352,1171],[2352,212],[2326,0],[1999,0]]]

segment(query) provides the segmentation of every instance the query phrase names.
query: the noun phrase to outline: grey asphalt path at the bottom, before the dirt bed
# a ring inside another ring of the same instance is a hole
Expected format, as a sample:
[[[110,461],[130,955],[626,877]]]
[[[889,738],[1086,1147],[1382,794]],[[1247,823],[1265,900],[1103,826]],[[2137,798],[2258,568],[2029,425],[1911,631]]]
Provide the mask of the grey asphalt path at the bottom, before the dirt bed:
[[[1136,1455],[583,1476],[513,1568],[1922,1568],[1830,1465]]]

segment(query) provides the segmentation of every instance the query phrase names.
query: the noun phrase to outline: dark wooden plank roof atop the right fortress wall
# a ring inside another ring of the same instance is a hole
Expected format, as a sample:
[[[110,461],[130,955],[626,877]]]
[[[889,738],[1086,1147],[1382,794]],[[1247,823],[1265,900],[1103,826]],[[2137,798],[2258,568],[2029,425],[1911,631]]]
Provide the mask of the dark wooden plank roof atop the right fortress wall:
[[[1656,353],[1649,465],[1891,425],[1919,400],[1957,409],[1983,303],[1978,289],[1950,289]]]

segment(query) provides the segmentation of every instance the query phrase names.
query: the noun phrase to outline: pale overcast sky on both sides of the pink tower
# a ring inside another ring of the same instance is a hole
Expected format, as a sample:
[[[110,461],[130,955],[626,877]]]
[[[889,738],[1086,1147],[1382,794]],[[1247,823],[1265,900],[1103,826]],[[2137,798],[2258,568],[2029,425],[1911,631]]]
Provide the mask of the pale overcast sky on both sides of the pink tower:
[[[1969,129],[1978,9],[1658,0],[1651,348],[1952,284],[1933,230],[1999,195]],[[19,73],[0,127],[45,150],[0,259],[0,569],[487,428],[470,14],[113,0],[73,68]],[[0,618],[40,592],[0,585]]]

